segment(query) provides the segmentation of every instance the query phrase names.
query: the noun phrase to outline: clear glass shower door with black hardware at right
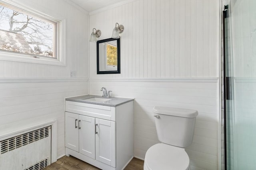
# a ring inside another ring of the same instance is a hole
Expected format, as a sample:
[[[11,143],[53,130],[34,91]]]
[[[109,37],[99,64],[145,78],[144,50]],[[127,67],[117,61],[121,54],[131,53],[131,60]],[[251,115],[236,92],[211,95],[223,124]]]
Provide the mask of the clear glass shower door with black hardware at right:
[[[256,170],[256,0],[230,0],[225,33],[226,169]]]

